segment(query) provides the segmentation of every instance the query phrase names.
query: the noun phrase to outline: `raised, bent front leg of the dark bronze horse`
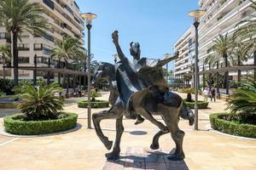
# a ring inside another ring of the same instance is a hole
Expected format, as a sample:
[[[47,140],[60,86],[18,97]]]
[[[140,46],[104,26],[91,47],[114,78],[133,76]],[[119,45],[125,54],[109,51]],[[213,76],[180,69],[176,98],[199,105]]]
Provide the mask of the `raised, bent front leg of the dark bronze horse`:
[[[113,144],[113,141],[110,141],[108,137],[106,137],[102,133],[102,128],[100,126],[100,122],[103,119],[116,119],[122,116],[123,108],[120,105],[113,105],[113,107],[109,111],[103,111],[100,113],[95,113],[92,115],[92,121],[96,130],[96,134],[101,139],[102,143],[105,145],[105,147],[110,150]]]

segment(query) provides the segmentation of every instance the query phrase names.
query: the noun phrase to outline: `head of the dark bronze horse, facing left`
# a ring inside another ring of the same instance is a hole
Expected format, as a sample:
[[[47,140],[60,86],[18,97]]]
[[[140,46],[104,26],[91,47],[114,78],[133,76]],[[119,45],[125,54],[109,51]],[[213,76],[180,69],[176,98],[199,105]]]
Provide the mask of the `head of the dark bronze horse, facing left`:
[[[100,62],[92,79],[92,85],[96,86],[100,80],[109,81],[109,79],[115,78],[114,65],[106,62]]]

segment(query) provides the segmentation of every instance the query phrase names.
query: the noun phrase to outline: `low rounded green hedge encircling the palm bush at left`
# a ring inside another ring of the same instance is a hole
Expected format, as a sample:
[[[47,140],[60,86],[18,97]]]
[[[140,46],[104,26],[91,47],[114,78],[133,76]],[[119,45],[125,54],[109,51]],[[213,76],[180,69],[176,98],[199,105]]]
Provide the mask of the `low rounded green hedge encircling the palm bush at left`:
[[[20,135],[36,135],[57,133],[76,127],[78,115],[74,113],[63,113],[67,116],[47,121],[22,121],[23,114],[5,116],[3,119],[5,131]]]

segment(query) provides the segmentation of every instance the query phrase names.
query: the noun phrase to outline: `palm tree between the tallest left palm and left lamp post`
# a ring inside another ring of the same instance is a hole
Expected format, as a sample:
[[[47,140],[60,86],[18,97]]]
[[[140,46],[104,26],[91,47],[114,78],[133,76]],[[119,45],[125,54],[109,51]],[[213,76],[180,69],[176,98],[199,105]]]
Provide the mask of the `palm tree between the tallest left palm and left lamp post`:
[[[84,57],[84,48],[81,46],[81,43],[78,39],[70,37],[70,36],[64,36],[61,41],[55,42],[56,48],[53,48],[51,50],[51,57],[55,57],[59,60],[59,65],[61,62],[61,59],[64,59],[65,61],[65,69],[67,69],[67,60],[68,59],[79,59]],[[60,77],[60,73],[59,73]],[[66,77],[66,76],[65,76]],[[65,80],[66,78],[64,78]],[[67,76],[68,79],[68,76]],[[60,78],[59,78],[60,83]],[[67,92],[68,94],[68,80],[66,84]]]

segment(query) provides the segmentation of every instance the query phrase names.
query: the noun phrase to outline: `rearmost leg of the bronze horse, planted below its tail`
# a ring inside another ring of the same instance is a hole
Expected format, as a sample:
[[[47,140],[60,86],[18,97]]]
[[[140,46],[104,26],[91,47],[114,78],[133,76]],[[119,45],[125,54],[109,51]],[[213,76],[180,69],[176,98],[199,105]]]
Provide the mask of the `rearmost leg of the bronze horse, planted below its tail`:
[[[175,153],[169,156],[168,159],[172,161],[183,160],[183,158],[185,157],[183,152],[183,137],[185,133],[178,127],[179,108],[166,108],[166,111],[163,112],[163,118],[171,132],[172,139],[176,144]]]

